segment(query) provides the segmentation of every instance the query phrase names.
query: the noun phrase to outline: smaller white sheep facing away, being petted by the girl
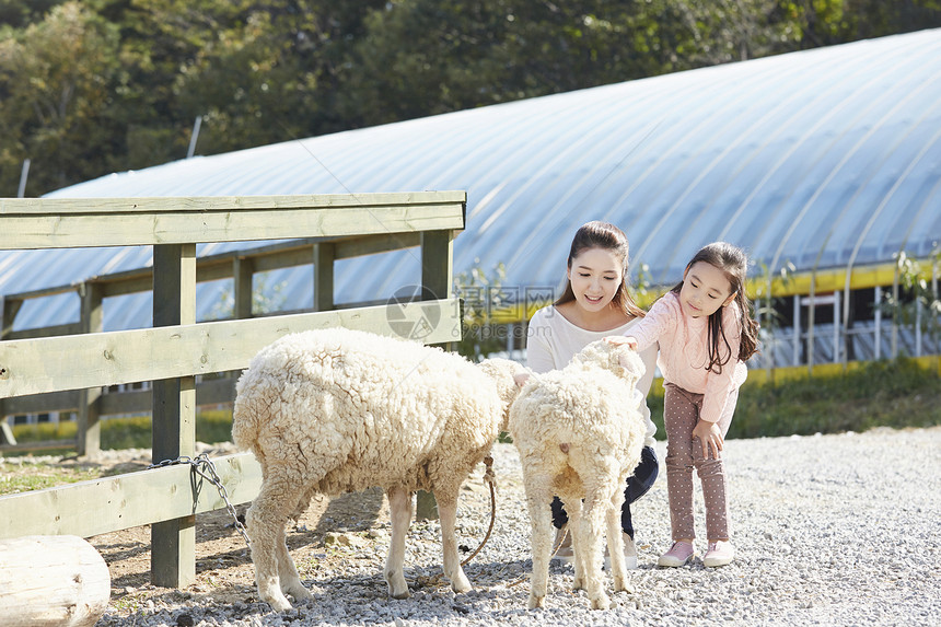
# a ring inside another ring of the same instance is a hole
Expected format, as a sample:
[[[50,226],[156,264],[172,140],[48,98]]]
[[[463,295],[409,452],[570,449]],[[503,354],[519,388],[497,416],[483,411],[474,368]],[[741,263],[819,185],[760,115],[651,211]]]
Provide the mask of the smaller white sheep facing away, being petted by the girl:
[[[601,572],[606,522],[614,589],[627,590],[620,508],[647,432],[639,410],[643,398],[635,388],[643,371],[636,352],[599,340],[562,370],[527,381],[518,376],[525,383],[510,408],[510,434],[520,451],[532,523],[531,608],[546,597],[553,496],[569,513],[574,589],[588,592],[593,609],[611,607]]]

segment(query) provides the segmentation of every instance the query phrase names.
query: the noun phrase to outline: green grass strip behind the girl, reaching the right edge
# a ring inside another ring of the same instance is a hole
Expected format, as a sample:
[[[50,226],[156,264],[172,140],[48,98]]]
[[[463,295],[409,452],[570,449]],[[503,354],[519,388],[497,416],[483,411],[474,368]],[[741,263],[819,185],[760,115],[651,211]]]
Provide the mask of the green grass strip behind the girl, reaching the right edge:
[[[663,393],[648,397],[658,437]],[[941,425],[941,378],[910,359],[871,361],[836,375],[745,383],[729,438],[811,436]]]

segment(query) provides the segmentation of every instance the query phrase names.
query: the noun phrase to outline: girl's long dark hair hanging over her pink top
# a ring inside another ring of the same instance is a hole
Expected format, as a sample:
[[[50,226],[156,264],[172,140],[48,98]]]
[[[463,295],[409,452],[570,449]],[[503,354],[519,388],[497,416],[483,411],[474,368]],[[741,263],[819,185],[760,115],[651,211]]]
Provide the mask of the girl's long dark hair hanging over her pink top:
[[[686,271],[688,272],[689,268],[699,262],[718,268],[729,279],[729,285],[735,293],[735,303],[739,305],[739,311],[742,312],[742,337],[739,344],[737,359],[739,361],[747,361],[758,351],[758,323],[752,317],[752,304],[748,302],[748,297],[745,295],[748,257],[737,246],[725,242],[713,242],[702,246],[693,256],[693,259],[686,264]],[[679,281],[670,291],[678,295],[682,288],[683,281]],[[709,316],[709,363],[706,365],[706,370],[717,374],[722,372],[722,367],[732,359],[732,347],[725,338],[725,330],[722,328],[723,309],[719,307]],[[724,351],[720,349],[721,342],[725,344]]]

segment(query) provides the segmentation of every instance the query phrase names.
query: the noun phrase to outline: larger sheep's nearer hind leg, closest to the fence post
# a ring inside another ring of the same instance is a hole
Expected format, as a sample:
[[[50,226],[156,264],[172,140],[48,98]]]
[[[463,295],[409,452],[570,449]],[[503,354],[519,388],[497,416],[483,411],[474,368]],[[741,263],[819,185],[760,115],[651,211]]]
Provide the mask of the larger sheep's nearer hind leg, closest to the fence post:
[[[281,562],[284,557],[279,554],[283,553],[288,560],[291,559],[284,545],[284,526],[288,524],[288,512],[295,504],[297,491],[291,489],[290,480],[276,477],[275,473],[276,471],[269,469],[262,490],[245,514],[245,520],[252,541],[252,561],[255,564],[258,597],[274,609],[282,612],[290,609],[291,604],[281,592],[279,572],[282,571]],[[293,562],[291,568],[293,569]],[[294,574],[297,577],[297,570]]]

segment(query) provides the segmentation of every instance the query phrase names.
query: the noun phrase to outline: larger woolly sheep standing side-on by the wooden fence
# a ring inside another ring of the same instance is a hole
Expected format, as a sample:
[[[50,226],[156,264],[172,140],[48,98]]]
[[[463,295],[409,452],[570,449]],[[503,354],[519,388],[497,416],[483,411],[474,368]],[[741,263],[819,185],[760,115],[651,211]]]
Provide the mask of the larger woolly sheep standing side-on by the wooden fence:
[[[310,599],[284,544],[289,516],[314,494],[382,487],[392,543],[388,593],[408,596],[403,573],[411,496],[438,501],[444,574],[471,590],[457,558],[457,492],[506,430],[523,368],[473,364],[440,348],[344,328],[288,335],[262,349],[236,386],[232,438],[262,465],[262,489],[246,514],[258,595],[275,609]]]

